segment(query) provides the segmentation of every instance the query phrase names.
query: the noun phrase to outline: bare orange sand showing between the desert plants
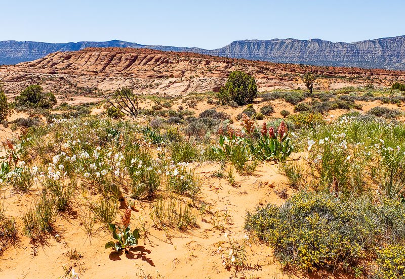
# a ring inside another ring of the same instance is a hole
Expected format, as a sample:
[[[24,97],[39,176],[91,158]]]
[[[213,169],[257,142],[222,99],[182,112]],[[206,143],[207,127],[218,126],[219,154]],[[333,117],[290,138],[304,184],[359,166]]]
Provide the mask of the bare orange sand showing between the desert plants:
[[[71,104],[80,104],[86,100],[74,100]],[[94,101],[94,100],[87,100]],[[293,112],[294,106],[284,101],[268,102],[275,108],[272,117],[281,117],[281,110]],[[147,107],[153,102],[146,101]],[[267,104],[267,103],[266,103]],[[380,106],[381,102],[361,103],[363,111]],[[181,104],[174,105],[177,109]],[[255,103],[259,110],[265,103]],[[382,105],[398,108],[395,105]],[[234,118],[243,108],[208,105],[206,101],[198,103],[195,116],[206,109],[216,108]],[[402,108],[400,108],[402,109]],[[101,108],[92,111],[93,115],[102,113]],[[327,119],[346,113],[344,110],[329,112]],[[27,117],[24,113],[14,113],[9,121],[18,117]],[[266,120],[268,120],[267,118]],[[263,121],[266,121],[263,120]],[[234,119],[237,124],[236,120]],[[261,122],[258,121],[260,125]],[[0,141],[18,136],[19,131],[0,126]],[[305,154],[293,153],[290,161],[304,160]],[[132,227],[146,228],[140,245],[129,254],[112,252],[104,249],[106,242],[112,240],[108,231],[99,228],[91,238],[87,236],[78,214],[80,209],[72,203],[68,214],[60,216],[57,221],[56,232],[44,244],[33,246],[25,236],[15,247],[10,247],[0,254],[1,278],[57,278],[62,276],[65,269],[74,267],[80,278],[289,278],[300,277],[284,274],[278,262],[272,256],[271,249],[265,245],[250,241],[247,246],[247,267],[244,270],[226,270],[222,265],[221,255],[217,253],[219,245],[227,241],[243,241],[246,232],[244,221],[246,211],[252,211],[259,205],[269,202],[282,204],[285,199],[277,192],[286,189],[291,195],[293,190],[288,187],[287,179],[280,174],[279,164],[274,162],[262,163],[251,176],[240,176],[235,173],[235,185],[232,186],[225,178],[216,178],[214,173],[220,168],[218,163],[204,162],[195,165],[195,173],[201,181],[201,193],[198,195],[197,205],[207,204],[207,211],[199,213],[197,228],[180,231],[171,228],[158,229],[153,226],[150,210],[153,203],[136,202],[132,214]],[[229,167],[229,165],[227,166]],[[20,231],[22,222],[20,215],[32,206],[31,201],[39,194],[39,189],[28,194],[17,195],[4,186],[5,208],[9,216],[14,216]],[[125,209],[121,204],[120,210]],[[224,213],[229,218],[224,229],[218,229],[213,223],[219,219],[224,222]],[[216,216],[220,217],[216,217]],[[117,217],[119,221],[119,217]],[[145,233],[146,232],[146,233]],[[226,237],[227,235],[227,237]],[[76,249],[83,258],[70,260],[66,253]],[[146,277],[149,275],[150,277]],[[326,275],[325,275],[326,276]],[[322,278],[324,275],[311,275]],[[335,277],[341,278],[337,274]]]

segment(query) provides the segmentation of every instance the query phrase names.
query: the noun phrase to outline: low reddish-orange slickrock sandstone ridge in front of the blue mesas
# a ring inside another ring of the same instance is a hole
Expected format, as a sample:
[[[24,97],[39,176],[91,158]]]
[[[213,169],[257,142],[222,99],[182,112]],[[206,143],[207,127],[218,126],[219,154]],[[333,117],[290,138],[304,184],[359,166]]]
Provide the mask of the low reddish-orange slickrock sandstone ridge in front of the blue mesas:
[[[0,81],[10,96],[30,84],[40,84],[45,90],[65,97],[90,92],[100,96],[99,90],[123,86],[131,86],[144,94],[184,95],[216,91],[235,70],[252,74],[260,91],[303,87],[301,76],[307,71],[320,75],[316,86],[324,86],[324,89],[370,82],[390,86],[394,80],[405,79],[404,72],[381,69],[275,64],[150,49],[88,48],[0,66]]]

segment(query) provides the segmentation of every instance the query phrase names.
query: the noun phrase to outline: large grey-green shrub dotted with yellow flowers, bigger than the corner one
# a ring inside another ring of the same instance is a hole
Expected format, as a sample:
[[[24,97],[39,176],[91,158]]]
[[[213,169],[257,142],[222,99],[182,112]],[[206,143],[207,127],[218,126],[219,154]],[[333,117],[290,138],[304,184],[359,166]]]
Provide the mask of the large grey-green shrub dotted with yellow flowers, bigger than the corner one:
[[[283,206],[248,213],[245,228],[274,248],[285,267],[313,270],[364,258],[379,231],[369,199],[343,201],[324,193],[301,192]],[[381,226],[380,226],[381,227]]]

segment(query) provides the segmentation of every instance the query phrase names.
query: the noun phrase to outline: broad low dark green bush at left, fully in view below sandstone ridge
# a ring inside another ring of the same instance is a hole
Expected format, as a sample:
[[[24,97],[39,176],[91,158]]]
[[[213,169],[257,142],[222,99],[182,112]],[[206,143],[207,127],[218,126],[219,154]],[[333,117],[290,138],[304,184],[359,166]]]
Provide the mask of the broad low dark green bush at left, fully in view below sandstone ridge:
[[[56,105],[52,92],[44,92],[39,85],[29,85],[15,99],[16,106],[49,109]]]

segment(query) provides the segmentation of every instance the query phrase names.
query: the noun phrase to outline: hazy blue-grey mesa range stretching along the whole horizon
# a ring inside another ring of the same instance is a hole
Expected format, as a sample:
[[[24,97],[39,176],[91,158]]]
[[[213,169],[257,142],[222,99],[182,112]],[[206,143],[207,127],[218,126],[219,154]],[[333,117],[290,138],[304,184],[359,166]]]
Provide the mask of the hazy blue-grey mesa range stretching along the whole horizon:
[[[0,64],[17,64],[42,58],[53,52],[78,51],[90,47],[148,48],[160,51],[193,52],[278,63],[405,70],[405,36],[353,43],[291,38],[239,40],[216,50],[144,45],[119,40],[68,43],[0,41]]]

